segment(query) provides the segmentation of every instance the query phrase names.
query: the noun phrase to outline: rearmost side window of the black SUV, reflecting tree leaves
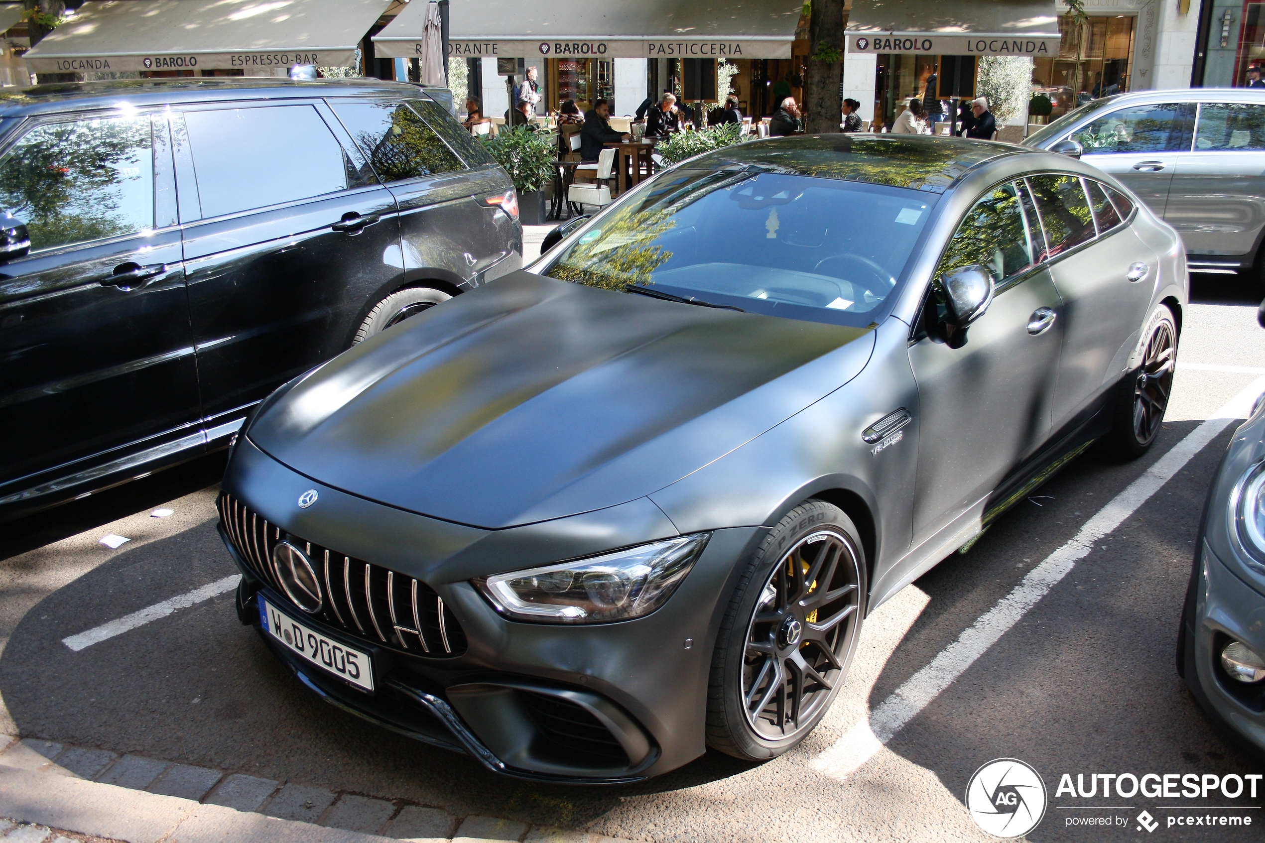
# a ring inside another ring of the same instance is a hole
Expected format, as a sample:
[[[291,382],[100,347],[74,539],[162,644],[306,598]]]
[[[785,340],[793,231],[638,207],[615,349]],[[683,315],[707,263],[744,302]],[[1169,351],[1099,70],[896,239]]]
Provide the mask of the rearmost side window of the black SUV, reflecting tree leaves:
[[[463,168],[435,130],[407,105],[336,100],[329,105],[383,182]]]

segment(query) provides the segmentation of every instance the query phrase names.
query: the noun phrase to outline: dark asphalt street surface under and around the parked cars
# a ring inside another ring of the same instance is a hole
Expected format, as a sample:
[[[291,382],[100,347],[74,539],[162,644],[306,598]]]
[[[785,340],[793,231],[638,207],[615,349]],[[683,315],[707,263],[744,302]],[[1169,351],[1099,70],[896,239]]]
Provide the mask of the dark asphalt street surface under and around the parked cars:
[[[1174,671],[1174,643],[1204,494],[1235,425],[1061,579],[858,770],[820,758],[868,712],[1007,597],[1116,494],[1265,374],[1261,291],[1197,276],[1174,401],[1136,463],[1087,454],[877,609],[834,708],[787,756],[719,753],[631,786],[562,787],[495,777],[316,700],[238,623],[231,593],[81,651],[62,638],[234,573],[215,531],[211,456],[6,525],[0,533],[0,727],[13,734],[407,799],[454,814],[584,828],[655,842],[983,840],[963,794],[1002,757],[1032,765],[1049,810],[1031,840],[1260,840],[1251,799],[1055,790],[1064,773],[1265,773],[1218,734]],[[1188,368],[1189,367],[1189,368]],[[156,518],[158,508],[172,511]],[[102,536],[129,538],[116,550]],[[1197,810],[1195,810],[1197,809]],[[1232,809],[1249,828],[1173,825]],[[1149,811],[1155,832],[1136,818]],[[1084,825],[1109,816],[1112,825]],[[1077,819],[1080,818],[1080,819]]]

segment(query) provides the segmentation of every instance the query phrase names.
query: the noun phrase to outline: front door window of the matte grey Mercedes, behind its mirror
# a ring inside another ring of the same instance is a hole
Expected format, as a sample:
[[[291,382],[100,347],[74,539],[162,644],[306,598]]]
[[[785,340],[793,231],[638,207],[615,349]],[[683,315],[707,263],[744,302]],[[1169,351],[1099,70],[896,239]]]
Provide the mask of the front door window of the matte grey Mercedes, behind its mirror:
[[[1040,239],[1040,230],[1036,238]],[[972,206],[945,249],[936,277],[982,264],[998,282],[1032,265],[1032,245],[1020,191],[1015,183],[998,185]]]

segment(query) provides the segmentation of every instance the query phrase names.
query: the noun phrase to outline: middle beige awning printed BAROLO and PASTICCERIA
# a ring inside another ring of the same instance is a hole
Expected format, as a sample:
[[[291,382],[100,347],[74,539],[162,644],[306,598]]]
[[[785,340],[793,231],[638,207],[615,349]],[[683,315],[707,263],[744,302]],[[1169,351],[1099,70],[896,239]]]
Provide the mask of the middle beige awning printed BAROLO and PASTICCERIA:
[[[450,57],[791,58],[803,0],[452,0]],[[421,56],[426,4],[373,37],[378,56]]]

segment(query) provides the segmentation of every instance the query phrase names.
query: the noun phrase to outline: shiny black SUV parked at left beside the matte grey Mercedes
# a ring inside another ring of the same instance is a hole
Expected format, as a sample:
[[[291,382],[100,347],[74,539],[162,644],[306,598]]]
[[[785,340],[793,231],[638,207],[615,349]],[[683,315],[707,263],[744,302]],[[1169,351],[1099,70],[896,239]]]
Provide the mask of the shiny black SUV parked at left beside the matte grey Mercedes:
[[[0,94],[0,517],[226,445],[277,385],[522,265],[514,186],[424,88]]]

